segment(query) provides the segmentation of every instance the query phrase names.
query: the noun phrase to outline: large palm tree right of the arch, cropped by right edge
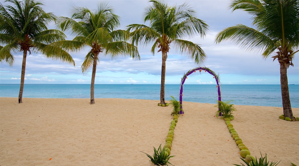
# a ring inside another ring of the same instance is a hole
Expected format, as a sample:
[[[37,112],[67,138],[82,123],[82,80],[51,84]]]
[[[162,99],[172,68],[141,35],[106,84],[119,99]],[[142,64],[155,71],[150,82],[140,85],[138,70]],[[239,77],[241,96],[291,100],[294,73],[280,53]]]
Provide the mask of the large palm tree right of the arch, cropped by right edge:
[[[252,15],[254,28],[238,24],[223,29],[216,35],[215,43],[231,40],[249,50],[263,50],[266,59],[271,55],[280,64],[280,84],[285,117],[293,118],[289,97],[287,68],[299,50],[298,0],[233,0],[229,7],[244,10]]]

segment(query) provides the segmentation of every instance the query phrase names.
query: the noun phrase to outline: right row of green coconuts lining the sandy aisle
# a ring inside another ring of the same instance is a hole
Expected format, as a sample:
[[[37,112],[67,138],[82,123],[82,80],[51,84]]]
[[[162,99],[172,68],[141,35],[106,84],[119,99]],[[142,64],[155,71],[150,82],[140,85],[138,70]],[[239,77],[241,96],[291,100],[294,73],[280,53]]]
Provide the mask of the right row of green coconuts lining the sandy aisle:
[[[224,120],[225,120],[226,126],[228,127],[228,130],[231,133],[231,137],[233,137],[233,139],[235,140],[235,142],[236,142],[236,144],[237,144],[237,146],[238,146],[238,148],[240,150],[241,157],[243,157],[247,163],[250,163],[252,160],[255,161],[256,159],[253,156],[250,155],[250,151],[243,144],[242,139],[239,137],[238,133],[233,128],[234,125],[231,124],[231,120],[230,119],[231,118],[225,118]]]

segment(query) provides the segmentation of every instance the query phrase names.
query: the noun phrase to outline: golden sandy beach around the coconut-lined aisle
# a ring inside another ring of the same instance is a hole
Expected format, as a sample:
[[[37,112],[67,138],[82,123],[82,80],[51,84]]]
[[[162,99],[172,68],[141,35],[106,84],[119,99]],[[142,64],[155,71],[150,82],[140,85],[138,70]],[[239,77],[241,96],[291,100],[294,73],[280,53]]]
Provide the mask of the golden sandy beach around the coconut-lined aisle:
[[[0,165],[144,165],[142,152],[165,144],[172,108],[155,100],[0,98]],[[215,104],[183,102],[169,162],[243,163]],[[278,119],[280,107],[235,105],[231,122],[252,156],[299,165],[299,122]],[[292,108],[294,116],[299,109]]]

